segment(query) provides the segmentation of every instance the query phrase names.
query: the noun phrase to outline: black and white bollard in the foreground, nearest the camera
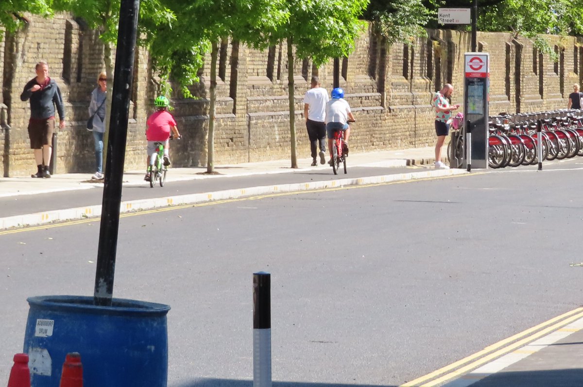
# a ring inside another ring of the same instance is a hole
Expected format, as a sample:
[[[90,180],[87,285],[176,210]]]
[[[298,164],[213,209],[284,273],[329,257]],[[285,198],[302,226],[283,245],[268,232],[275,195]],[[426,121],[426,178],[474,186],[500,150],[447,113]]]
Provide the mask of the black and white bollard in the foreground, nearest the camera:
[[[253,274],[253,387],[271,387],[271,274]]]

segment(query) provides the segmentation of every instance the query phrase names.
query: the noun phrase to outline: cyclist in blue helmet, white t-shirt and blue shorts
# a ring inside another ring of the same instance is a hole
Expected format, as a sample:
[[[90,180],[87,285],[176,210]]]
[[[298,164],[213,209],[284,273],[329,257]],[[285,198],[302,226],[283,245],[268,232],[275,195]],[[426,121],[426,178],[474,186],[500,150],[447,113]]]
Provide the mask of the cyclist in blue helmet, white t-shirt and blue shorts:
[[[348,155],[348,138],[350,137],[350,126],[348,120],[355,121],[350,105],[344,99],[344,90],[336,87],[332,90],[332,100],[326,103],[326,136],[328,137],[328,149],[330,150],[330,161],[328,164],[332,165],[332,139],[336,130],[344,132],[344,147],[342,154]]]

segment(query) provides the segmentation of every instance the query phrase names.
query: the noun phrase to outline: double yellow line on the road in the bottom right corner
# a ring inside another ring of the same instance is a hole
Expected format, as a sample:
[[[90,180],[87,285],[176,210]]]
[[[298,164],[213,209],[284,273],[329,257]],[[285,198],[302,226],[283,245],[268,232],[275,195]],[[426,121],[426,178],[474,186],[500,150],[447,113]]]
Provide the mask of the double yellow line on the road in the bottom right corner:
[[[577,308],[560,316],[549,319],[542,324],[526,329],[514,336],[501,340],[493,345],[487,346],[483,350],[476,352],[470,356],[464,357],[455,363],[446,365],[439,370],[430,372],[410,382],[402,384],[399,387],[433,387],[444,382],[447,382],[456,377],[460,377],[466,372],[473,370],[480,365],[489,363],[497,357],[503,356],[519,347],[538,339],[542,336],[548,335],[551,332],[557,331],[565,325],[571,324],[573,321],[583,318],[583,308]],[[518,341],[517,341],[518,340]],[[468,364],[466,364],[468,363]],[[466,365],[464,365],[466,364]],[[463,365],[463,367],[462,367]],[[442,376],[440,376],[442,375]]]

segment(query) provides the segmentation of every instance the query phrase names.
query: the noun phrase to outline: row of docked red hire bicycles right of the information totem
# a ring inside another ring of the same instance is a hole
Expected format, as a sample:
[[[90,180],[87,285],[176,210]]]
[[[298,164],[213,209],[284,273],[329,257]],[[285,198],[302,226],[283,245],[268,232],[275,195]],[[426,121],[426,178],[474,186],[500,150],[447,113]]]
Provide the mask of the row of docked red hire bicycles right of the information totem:
[[[500,113],[489,117],[488,164],[490,168],[538,163],[538,125],[542,159],[583,156],[583,111],[560,109],[542,113]],[[462,136],[455,144],[463,154]]]

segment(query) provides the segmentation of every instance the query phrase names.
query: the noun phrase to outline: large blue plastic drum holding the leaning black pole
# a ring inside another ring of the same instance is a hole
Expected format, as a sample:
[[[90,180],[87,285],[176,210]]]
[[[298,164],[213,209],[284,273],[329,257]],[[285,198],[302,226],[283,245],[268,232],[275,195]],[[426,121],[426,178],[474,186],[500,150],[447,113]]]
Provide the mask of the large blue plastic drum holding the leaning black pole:
[[[166,387],[170,306],[124,299],[94,306],[93,297],[82,296],[27,301],[24,353],[32,387],[58,386],[71,352],[81,355],[84,387]]]

